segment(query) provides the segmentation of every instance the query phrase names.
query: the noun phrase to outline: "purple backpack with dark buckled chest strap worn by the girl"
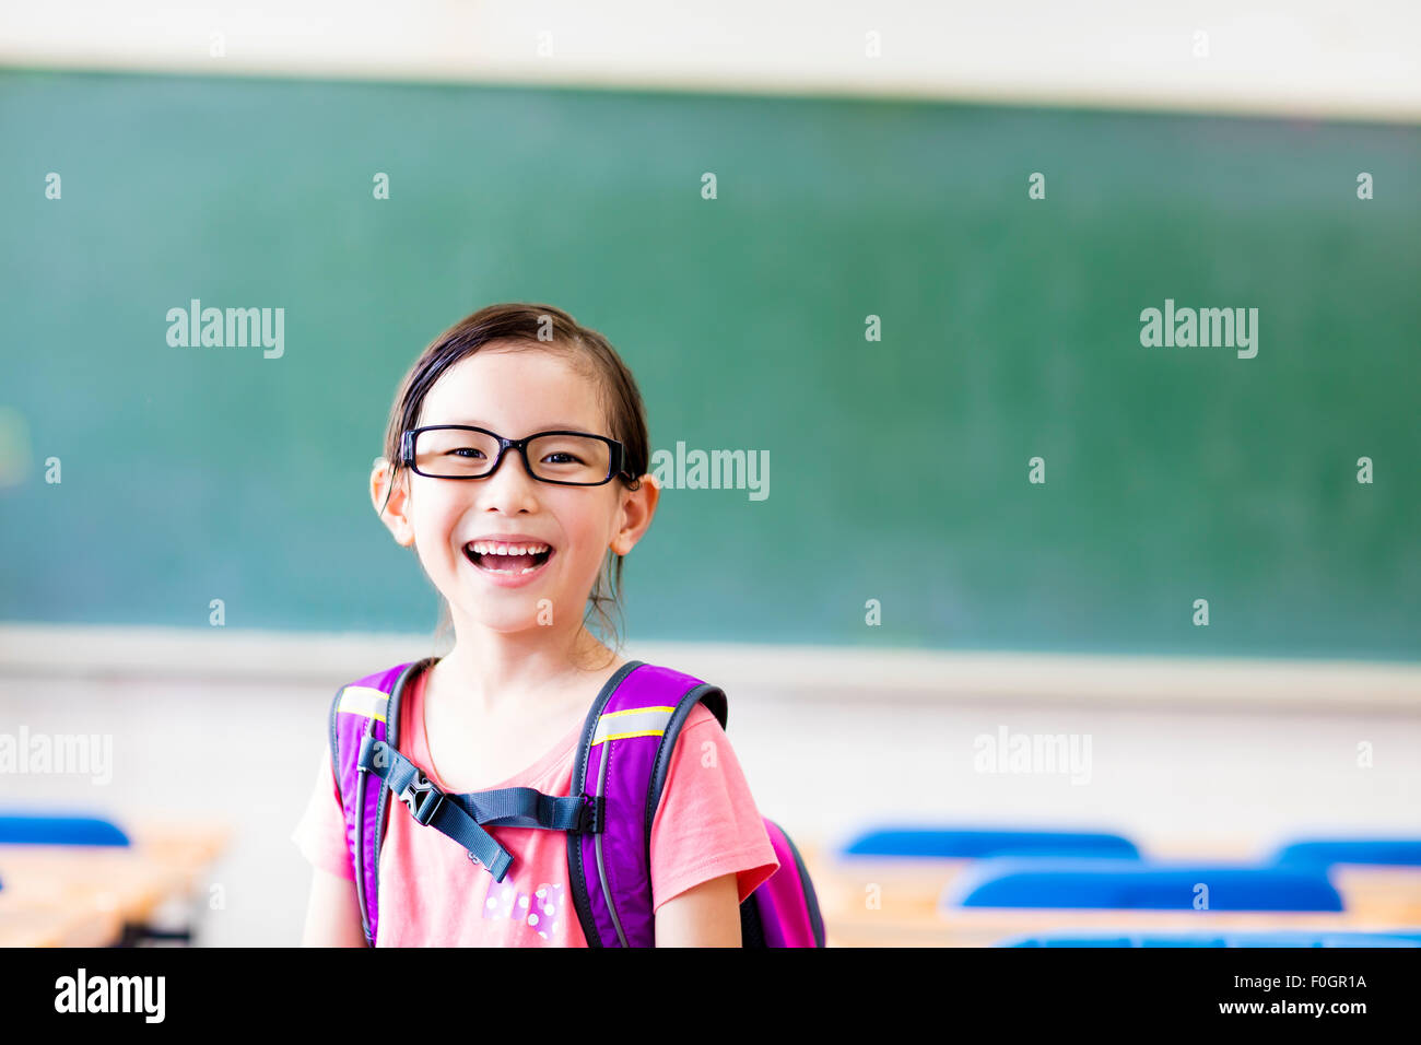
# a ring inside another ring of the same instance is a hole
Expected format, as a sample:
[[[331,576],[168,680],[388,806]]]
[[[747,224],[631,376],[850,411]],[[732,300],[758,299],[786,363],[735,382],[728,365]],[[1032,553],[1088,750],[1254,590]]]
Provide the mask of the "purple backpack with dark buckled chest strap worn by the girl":
[[[607,680],[583,724],[573,762],[573,795],[497,788],[466,795],[439,791],[399,754],[405,685],[438,658],[399,664],[341,687],[331,702],[331,761],[345,810],[355,899],[365,941],[379,930],[379,846],[395,795],[418,823],[468,850],[495,881],[513,862],[483,825],[567,832],[568,891],[590,947],[654,947],[651,825],[671,754],[698,704],[725,728],[719,687],[642,661]],[[799,850],[769,818],[764,829],[779,870],[740,904],[745,947],[823,947],[824,923]]]

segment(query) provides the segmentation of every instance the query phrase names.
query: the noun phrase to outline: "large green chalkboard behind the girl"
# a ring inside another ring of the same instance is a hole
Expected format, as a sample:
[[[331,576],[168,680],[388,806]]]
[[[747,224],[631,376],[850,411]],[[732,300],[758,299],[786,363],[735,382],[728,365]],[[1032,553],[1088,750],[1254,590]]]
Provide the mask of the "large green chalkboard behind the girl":
[[[3,618],[431,630],[369,462],[531,300],[655,448],[769,454],[664,493],[634,638],[1421,655],[1414,127],[11,70],[0,141]],[[281,357],[171,345],[192,299]],[[1142,345],[1167,301],[1258,354]]]

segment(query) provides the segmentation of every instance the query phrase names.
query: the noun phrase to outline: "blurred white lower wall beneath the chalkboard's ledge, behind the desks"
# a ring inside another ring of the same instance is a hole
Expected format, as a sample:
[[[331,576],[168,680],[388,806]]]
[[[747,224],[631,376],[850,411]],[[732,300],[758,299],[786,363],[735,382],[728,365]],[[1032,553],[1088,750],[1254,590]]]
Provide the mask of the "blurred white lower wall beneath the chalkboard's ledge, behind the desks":
[[[10,775],[3,802],[225,820],[230,847],[202,883],[203,906],[219,891],[222,906],[203,911],[198,943],[296,944],[310,870],[288,835],[333,691],[0,677],[0,731],[114,738],[111,783]],[[1299,832],[1414,835],[1421,806],[1414,715],[729,697],[729,738],[760,812],[806,847],[870,820],[926,819],[1101,827],[1161,854],[1248,857]],[[1088,735],[1088,779],[978,772],[973,741],[1003,728]],[[1370,768],[1358,766],[1364,741]]]

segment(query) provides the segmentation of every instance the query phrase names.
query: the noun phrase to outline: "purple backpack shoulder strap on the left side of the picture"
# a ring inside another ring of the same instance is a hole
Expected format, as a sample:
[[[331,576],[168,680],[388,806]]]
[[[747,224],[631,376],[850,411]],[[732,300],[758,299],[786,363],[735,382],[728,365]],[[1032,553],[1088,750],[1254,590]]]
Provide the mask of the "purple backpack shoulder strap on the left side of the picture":
[[[345,813],[345,845],[355,870],[355,899],[365,943],[379,931],[379,847],[385,835],[388,788],[369,785],[360,766],[365,738],[398,744],[405,684],[438,658],[396,664],[342,685],[331,701],[331,768]]]

